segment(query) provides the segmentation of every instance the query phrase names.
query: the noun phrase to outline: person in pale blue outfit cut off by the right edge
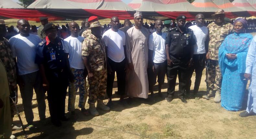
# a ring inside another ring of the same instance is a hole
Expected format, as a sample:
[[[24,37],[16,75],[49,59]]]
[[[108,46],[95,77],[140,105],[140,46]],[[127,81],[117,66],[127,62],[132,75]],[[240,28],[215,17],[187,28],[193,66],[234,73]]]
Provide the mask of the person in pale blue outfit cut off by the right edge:
[[[247,57],[244,77],[250,79],[247,109],[239,116],[247,117],[256,113],[256,36],[251,41]]]

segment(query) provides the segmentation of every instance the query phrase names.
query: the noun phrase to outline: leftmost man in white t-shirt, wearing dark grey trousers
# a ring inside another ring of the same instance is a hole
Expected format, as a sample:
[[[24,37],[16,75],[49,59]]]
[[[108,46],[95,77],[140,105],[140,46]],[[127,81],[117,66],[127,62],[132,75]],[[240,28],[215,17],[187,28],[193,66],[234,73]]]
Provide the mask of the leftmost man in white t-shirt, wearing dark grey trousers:
[[[17,62],[17,82],[20,88],[28,128],[33,128],[33,89],[36,92],[40,120],[45,120],[45,93],[42,87],[41,75],[38,71],[39,67],[35,64],[36,46],[41,41],[41,38],[37,35],[29,34],[30,25],[25,19],[17,21],[17,28],[20,34],[11,37],[9,43],[13,52],[13,58]]]

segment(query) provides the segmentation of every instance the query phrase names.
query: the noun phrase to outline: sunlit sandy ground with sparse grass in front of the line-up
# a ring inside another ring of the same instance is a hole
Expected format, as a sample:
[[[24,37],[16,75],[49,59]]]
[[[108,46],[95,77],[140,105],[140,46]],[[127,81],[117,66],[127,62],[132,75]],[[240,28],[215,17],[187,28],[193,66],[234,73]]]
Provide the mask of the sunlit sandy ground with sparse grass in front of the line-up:
[[[192,77],[192,87],[194,76]],[[200,86],[200,97],[205,93],[206,84],[204,82],[205,73]],[[167,93],[167,79],[162,87],[162,93]],[[157,93],[157,85],[154,86]],[[117,90],[114,82],[113,92]],[[176,91],[178,90],[178,79]],[[150,96],[150,95],[149,95]],[[48,124],[42,125],[39,122],[36,95],[33,96],[33,112],[36,129],[26,130],[28,137],[33,139],[126,139],[126,138],[190,138],[190,139],[214,139],[214,138],[256,138],[256,116],[246,118],[239,117],[240,112],[230,112],[212,100],[190,99],[188,103],[182,103],[175,98],[172,102],[158,97],[146,101],[136,99],[132,104],[121,105],[119,96],[113,95],[114,106],[110,112],[99,110],[99,116],[84,116],[78,109],[79,95],[76,96],[77,120],[63,122],[61,127],[55,127],[50,122],[48,106],[46,117]],[[246,95],[243,110],[246,108]],[[67,112],[66,99],[66,112]],[[21,111],[21,118],[26,123],[24,112],[22,111],[22,100],[19,96],[18,109]],[[104,102],[107,102],[105,100]],[[48,102],[46,100],[46,105]],[[88,104],[86,104],[88,108]],[[70,115],[69,112],[66,113]],[[19,123],[17,115],[15,123]],[[22,131],[13,132],[18,139],[23,139]]]

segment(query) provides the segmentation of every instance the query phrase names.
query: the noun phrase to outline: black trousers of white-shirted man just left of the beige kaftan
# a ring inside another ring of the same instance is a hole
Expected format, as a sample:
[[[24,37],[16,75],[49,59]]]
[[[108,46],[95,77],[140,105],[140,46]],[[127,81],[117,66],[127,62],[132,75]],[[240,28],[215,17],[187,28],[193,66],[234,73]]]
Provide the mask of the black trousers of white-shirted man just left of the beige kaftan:
[[[111,66],[112,72],[108,73],[107,77],[107,95],[109,98],[112,96],[113,83],[115,79],[115,72],[117,77],[117,89],[120,95],[125,93],[125,59],[122,62],[114,62],[108,58],[109,65]]]

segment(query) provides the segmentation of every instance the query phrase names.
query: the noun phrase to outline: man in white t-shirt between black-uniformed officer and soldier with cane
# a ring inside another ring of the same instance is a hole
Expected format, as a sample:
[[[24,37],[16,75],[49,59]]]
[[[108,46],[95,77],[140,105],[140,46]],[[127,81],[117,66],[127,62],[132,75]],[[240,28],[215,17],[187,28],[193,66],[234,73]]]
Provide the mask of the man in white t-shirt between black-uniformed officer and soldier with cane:
[[[204,15],[198,14],[195,16],[196,25],[189,27],[194,32],[194,38],[196,39],[196,44],[194,45],[194,55],[193,55],[193,66],[189,68],[189,76],[186,84],[186,95],[190,97],[190,86],[191,86],[191,77],[195,70],[195,85],[193,95],[195,99],[199,99],[197,92],[200,86],[202,72],[205,65],[205,56],[208,52],[208,28],[204,26]]]

